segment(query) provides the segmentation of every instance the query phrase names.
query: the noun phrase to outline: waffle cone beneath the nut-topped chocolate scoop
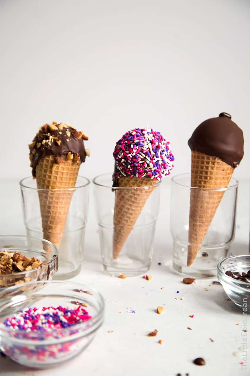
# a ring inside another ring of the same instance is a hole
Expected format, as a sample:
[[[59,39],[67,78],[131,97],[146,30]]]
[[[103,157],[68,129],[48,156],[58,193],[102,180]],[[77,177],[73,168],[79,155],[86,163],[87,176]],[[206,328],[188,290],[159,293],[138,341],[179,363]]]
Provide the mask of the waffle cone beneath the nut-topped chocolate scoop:
[[[55,163],[54,155],[40,159],[36,167],[37,188],[62,190],[73,188],[76,183],[81,161]],[[73,191],[38,191],[42,217],[43,238],[51,241],[58,248],[69,210]]]

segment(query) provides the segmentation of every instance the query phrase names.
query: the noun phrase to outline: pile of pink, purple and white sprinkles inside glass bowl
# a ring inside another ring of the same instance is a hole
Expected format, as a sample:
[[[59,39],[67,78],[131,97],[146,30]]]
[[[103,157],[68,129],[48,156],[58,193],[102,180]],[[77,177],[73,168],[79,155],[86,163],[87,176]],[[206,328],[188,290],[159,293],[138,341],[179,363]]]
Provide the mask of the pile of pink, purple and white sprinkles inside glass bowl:
[[[88,312],[80,305],[76,309],[64,308],[62,306],[28,308],[20,311],[18,315],[12,318],[6,318],[4,326],[14,330],[26,332],[50,332],[55,329],[61,329],[73,326],[91,318]]]

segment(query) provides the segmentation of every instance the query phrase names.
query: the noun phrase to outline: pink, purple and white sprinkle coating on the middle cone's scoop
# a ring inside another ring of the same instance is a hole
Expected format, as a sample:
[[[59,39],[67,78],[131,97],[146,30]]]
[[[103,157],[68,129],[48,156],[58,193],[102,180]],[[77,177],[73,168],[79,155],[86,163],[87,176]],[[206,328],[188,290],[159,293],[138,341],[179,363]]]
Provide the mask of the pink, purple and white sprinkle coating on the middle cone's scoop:
[[[116,143],[113,153],[117,177],[150,177],[160,180],[174,167],[170,143],[153,129],[135,128]]]

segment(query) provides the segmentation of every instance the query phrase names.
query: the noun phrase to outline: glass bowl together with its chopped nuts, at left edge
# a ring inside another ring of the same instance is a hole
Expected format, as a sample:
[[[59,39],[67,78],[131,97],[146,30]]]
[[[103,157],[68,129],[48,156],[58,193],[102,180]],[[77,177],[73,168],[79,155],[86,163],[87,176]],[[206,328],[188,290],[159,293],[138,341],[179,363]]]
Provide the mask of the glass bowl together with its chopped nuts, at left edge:
[[[49,280],[58,268],[58,249],[47,240],[0,236],[0,291],[13,285]]]

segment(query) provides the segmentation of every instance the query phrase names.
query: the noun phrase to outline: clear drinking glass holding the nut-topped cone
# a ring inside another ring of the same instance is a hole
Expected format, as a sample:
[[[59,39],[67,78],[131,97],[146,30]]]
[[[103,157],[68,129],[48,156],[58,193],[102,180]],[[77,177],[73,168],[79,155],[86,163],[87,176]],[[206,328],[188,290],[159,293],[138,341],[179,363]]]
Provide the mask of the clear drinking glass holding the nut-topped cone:
[[[42,190],[36,188],[36,180],[26,177],[19,183],[22,195],[22,208],[24,224],[27,235],[44,238],[40,202],[42,199],[51,199],[51,202],[59,202],[64,205],[64,200],[70,201],[66,222],[59,247],[58,273],[54,279],[68,279],[76,276],[81,271],[84,251],[85,226],[88,216],[88,200],[90,180],[78,176],[75,188],[63,190]],[[59,221],[61,221],[58,212]],[[55,223],[58,218],[55,218]],[[47,240],[60,238],[57,234],[57,226],[47,232]],[[46,238],[45,237],[45,238]]]

